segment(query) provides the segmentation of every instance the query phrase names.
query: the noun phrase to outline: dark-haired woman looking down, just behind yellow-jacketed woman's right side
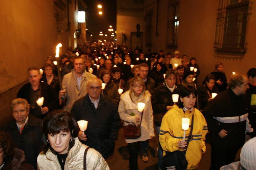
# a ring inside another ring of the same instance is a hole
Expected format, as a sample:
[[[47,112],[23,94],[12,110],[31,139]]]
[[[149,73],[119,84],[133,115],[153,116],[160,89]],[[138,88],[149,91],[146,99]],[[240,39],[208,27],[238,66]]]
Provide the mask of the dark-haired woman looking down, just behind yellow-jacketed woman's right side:
[[[215,77],[213,74],[208,74],[203,82],[203,85],[198,89],[199,108],[203,108],[213,99],[211,94],[219,93],[219,89],[215,86]]]

